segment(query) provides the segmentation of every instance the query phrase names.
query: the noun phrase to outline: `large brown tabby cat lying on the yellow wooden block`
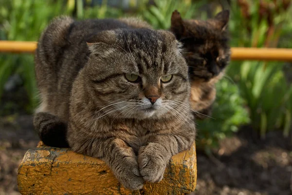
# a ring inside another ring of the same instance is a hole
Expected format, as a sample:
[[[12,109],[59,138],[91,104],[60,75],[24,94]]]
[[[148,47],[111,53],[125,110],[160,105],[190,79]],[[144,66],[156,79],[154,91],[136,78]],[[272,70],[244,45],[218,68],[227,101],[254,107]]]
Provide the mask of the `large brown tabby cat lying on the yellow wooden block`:
[[[35,61],[41,140],[104,160],[126,188],[160,181],[171,156],[193,144],[188,67],[172,33],[61,17]]]

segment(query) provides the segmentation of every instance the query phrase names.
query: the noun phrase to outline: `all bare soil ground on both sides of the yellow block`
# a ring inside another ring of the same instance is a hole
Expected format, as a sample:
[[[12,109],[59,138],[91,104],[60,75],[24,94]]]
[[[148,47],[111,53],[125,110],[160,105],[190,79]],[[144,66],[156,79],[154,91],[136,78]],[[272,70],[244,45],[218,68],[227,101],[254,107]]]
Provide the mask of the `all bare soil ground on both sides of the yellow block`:
[[[27,149],[35,147],[32,116],[0,118],[0,195],[18,195],[18,164]],[[243,127],[221,141],[214,156],[198,151],[195,195],[292,195],[292,142],[281,132],[265,140]]]

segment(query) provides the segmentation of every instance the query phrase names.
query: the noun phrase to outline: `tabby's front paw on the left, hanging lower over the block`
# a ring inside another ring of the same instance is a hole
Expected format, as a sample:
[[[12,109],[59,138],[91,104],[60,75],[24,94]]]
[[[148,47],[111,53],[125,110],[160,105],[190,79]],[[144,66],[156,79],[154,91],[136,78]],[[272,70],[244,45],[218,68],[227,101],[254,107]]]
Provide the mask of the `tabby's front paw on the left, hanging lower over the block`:
[[[117,165],[116,176],[122,185],[129,190],[140,190],[143,188],[144,179],[140,175],[137,159],[125,156]]]

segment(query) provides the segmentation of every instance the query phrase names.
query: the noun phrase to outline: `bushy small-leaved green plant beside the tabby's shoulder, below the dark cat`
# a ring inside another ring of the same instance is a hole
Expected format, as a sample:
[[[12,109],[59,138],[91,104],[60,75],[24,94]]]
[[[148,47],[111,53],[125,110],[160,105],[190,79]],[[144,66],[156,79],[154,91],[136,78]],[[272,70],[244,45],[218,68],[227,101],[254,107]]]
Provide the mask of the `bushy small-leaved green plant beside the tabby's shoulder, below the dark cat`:
[[[237,85],[226,78],[217,83],[212,117],[197,121],[197,147],[210,154],[212,148],[218,147],[219,140],[232,136],[240,125],[249,123],[249,114],[244,105]]]

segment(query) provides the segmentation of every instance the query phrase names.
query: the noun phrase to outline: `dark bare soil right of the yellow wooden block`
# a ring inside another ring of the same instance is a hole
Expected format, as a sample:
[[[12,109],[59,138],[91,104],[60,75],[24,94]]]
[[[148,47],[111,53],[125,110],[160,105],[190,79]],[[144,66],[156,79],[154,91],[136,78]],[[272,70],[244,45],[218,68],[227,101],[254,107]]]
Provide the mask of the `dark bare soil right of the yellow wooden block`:
[[[281,132],[265,140],[250,128],[221,141],[213,158],[198,152],[196,195],[292,195],[292,144]]]

